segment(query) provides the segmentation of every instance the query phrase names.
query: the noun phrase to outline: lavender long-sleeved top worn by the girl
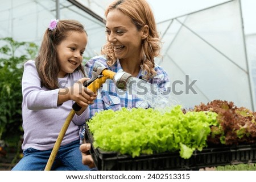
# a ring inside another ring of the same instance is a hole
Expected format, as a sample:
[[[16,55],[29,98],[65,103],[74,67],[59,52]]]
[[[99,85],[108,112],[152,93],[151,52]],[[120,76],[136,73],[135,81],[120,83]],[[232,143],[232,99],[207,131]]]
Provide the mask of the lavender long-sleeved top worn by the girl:
[[[65,78],[59,78],[59,83],[61,87],[69,87],[82,77],[83,75],[79,71],[75,71]],[[22,77],[23,150],[29,147],[37,150],[49,150],[55,145],[74,103],[72,100],[68,100],[58,106],[58,92],[59,89],[48,90],[41,87],[35,61],[26,62]],[[85,123],[85,118],[88,118],[89,115],[87,110],[82,115],[73,117],[61,146],[79,140],[80,126]]]

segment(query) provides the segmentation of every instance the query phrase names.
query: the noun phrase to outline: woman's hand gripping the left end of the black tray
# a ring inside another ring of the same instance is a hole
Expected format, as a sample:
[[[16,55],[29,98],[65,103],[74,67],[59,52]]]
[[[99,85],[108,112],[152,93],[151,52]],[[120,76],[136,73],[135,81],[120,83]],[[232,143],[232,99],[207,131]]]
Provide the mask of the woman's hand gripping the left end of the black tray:
[[[95,167],[92,155],[89,154],[90,143],[82,143],[80,145],[80,151],[82,153],[82,164],[89,166],[89,168]]]

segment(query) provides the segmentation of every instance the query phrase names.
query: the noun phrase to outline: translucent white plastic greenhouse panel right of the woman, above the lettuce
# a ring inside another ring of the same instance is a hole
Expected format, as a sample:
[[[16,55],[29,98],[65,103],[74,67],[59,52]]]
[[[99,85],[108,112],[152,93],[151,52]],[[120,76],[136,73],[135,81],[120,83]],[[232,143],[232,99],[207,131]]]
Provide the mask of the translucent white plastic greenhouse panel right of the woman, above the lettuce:
[[[221,99],[253,109],[239,1],[158,26],[164,43],[164,59],[158,64],[167,70],[172,94],[185,107]]]

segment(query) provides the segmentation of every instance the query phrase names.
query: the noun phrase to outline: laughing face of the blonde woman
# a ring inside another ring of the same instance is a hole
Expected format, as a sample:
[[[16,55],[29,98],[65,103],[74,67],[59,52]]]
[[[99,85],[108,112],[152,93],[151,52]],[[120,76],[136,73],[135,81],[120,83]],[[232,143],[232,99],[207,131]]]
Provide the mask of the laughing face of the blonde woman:
[[[131,18],[114,9],[106,16],[106,38],[112,44],[115,57],[137,59],[142,49],[142,31],[138,31]]]

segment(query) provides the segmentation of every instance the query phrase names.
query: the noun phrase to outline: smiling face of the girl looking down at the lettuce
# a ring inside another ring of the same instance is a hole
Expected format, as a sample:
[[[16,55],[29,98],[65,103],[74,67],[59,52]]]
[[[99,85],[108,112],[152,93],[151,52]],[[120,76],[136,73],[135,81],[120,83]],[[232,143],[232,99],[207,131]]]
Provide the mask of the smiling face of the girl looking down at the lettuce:
[[[67,73],[73,73],[82,62],[82,54],[87,44],[85,32],[69,32],[68,36],[56,46],[57,61],[59,61],[59,78]]]

